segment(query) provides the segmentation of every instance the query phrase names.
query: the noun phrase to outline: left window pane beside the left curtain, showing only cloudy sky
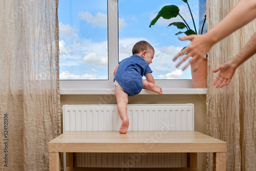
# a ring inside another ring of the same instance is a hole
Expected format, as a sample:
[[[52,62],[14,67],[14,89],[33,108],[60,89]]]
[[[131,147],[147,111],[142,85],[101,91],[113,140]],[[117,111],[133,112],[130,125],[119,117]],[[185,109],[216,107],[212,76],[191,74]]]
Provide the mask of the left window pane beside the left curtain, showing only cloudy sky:
[[[60,79],[108,79],[106,0],[59,0]]]

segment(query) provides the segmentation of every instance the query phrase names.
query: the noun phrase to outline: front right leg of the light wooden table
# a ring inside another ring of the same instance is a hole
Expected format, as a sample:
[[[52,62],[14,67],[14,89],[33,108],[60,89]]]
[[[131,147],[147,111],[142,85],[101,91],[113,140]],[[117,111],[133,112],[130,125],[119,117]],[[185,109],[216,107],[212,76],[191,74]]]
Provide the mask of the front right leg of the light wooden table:
[[[226,153],[214,153],[214,171],[226,171]]]

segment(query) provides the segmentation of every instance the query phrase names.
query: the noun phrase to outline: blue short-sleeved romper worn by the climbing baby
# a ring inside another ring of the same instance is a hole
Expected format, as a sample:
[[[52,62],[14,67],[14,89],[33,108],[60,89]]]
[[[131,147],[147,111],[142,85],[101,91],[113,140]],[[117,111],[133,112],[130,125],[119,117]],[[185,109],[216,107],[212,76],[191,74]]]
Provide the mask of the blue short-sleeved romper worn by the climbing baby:
[[[153,71],[142,57],[132,55],[119,62],[114,80],[128,96],[134,96],[143,88],[142,77],[150,72]]]

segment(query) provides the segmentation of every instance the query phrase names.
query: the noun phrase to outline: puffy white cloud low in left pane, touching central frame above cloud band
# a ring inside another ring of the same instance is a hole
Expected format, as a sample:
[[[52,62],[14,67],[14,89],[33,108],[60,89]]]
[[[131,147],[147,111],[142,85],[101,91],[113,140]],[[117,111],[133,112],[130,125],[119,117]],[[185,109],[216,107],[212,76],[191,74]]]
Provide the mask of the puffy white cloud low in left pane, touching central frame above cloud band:
[[[83,57],[83,63],[90,63],[92,65],[105,67],[108,65],[108,57],[99,56],[96,52],[93,52]]]

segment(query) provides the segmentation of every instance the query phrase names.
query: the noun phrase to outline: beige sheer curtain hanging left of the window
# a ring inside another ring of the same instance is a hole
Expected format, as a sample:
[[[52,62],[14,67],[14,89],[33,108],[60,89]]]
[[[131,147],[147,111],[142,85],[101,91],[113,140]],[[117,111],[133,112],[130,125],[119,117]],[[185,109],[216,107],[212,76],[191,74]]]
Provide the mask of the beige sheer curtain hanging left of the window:
[[[60,133],[57,7],[0,0],[0,170],[49,170]]]

